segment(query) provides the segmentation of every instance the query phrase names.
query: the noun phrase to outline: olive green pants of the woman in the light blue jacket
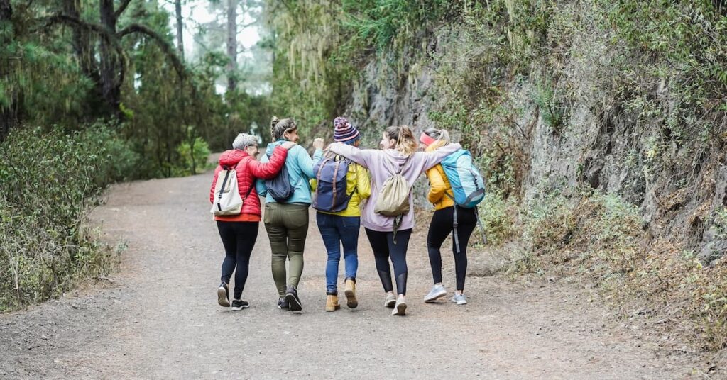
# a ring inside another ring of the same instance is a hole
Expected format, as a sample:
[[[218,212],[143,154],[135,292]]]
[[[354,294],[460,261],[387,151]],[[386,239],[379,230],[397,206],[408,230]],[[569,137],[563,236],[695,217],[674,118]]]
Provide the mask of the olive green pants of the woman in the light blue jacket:
[[[286,285],[298,287],[303,272],[303,248],[308,235],[308,205],[295,203],[265,203],[265,230],[268,231],[273,261],[273,280],[278,296],[285,296]],[[286,278],[285,260],[290,261]]]

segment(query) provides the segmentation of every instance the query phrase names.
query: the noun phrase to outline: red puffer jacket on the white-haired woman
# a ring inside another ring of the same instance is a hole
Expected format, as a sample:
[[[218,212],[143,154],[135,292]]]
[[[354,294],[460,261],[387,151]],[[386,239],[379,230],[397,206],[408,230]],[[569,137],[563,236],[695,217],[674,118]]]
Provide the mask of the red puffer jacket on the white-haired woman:
[[[240,196],[243,198],[241,214],[252,214],[260,217],[262,215],[260,212],[260,198],[257,198],[255,180],[258,178],[270,179],[275,177],[283,167],[287,156],[288,150],[284,147],[276,147],[273,150],[273,155],[270,155],[270,161],[262,163],[252,158],[244,150],[225,150],[220,155],[220,165],[217,166],[217,169],[214,169],[212,187],[209,188],[209,202],[212,203],[214,200],[214,185],[217,183],[217,174],[222,171],[222,166],[233,169],[237,165],[237,185]],[[251,186],[252,191],[250,190]],[[250,192],[250,195],[245,198],[248,192]],[[214,217],[214,219],[230,220],[237,219],[237,217]]]

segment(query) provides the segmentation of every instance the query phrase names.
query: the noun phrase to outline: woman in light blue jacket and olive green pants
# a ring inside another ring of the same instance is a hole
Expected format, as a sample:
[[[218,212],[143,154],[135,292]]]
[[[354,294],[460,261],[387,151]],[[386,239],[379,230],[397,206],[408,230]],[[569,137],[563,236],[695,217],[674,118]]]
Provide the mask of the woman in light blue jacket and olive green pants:
[[[268,161],[268,155],[278,145],[286,141],[298,142],[298,129],[292,118],[278,120],[273,117],[270,123],[270,135],[273,142],[268,145],[267,154],[261,162]],[[316,152],[313,159],[308,152],[296,145],[288,150],[284,167],[288,171],[293,194],[284,202],[278,202],[268,193],[265,182],[258,181],[258,193],[265,195],[265,214],[263,222],[268,231],[270,249],[273,252],[273,280],[278,288],[278,307],[294,312],[302,310],[298,297],[298,283],[303,272],[303,248],[308,235],[308,207],[312,202],[309,181],[313,178],[313,165],[323,156],[323,139],[313,141]],[[285,261],[290,261],[289,273],[286,273]]]

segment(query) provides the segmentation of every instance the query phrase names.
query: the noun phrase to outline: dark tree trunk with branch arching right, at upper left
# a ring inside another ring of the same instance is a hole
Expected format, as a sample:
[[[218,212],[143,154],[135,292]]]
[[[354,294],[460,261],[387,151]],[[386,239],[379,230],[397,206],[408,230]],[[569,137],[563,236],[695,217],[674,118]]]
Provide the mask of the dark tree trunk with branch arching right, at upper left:
[[[113,0],[100,0],[101,25],[108,33],[116,35],[116,14]],[[103,99],[108,114],[121,116],[121,80],[119,76],[119,57],[112,46],[113,42],[101,39],[101,84]]]

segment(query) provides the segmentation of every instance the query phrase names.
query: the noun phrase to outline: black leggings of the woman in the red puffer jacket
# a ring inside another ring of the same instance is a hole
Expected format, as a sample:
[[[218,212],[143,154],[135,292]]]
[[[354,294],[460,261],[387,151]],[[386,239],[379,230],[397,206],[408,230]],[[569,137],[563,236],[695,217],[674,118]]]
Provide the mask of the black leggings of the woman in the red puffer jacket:
[[[235,271],[235,299],[240,299],[245,289],[247,273],[250,266],[252,247],[257,240],[257,227],[260,222],[220,222],[217,221],[217,230],[220,231],[222,245],[225,246],[225,260],[222,261],[223,283],[230,283],[232,272]],[[237,267],[237,270],[235,270]]]

